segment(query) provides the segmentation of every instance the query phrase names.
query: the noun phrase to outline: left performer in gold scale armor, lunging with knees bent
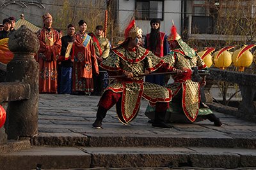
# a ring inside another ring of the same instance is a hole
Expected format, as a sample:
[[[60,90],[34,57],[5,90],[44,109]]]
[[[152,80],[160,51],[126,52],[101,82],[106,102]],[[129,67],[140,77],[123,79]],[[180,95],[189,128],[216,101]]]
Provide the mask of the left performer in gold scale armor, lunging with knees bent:
[[[168,102],[172,99],[172,91],[154,83],[144,82],[143,76],[138,75],[149,73],[149,71],[166,72],[175,71],[175,69],[140,46],[142,43],[141,34],[142,30],[136,27],[134,20],[132,20],[125,29],[124,43],[113,48],[109,57],[101,62],[100,67],[106,69],[109,76],[125,76],[116,78],[115,82],[111,83],[103,92],[93,127],[101,127],[107,111],[115,104],[120,122],[129,124],[138,115],[141,97],[143,97],[150,103],[150,106],[156,106],[152,126],[171,128],[164,122],[164,115],[166,109],[169,108]]]

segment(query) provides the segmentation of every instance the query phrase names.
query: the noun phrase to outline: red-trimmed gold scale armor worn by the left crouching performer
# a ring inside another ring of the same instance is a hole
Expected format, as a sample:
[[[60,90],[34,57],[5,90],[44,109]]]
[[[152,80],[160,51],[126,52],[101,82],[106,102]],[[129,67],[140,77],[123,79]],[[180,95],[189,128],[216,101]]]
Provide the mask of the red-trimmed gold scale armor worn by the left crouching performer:
[[[174,58],[172,59],[174,62]],[[145,73],[145,69],[156,71],[163,63],[163,60],[145,48],[126,49],[125,45],[120,45],[114,48],[109,57],[100,64],[103,69],[115,71],[116,74],[122,70],[134,74],[132,79],[116,78],[115,82],[106,89],[122,92],[122,118],[118,117],[118,119],[123,124],[129,124],[136,118],[140,109],[141,97],[147,99],[150,106],[155,106],[156,102],[171,101],[171,90],[154,83],[144,82],[143,76],[138,76]]]

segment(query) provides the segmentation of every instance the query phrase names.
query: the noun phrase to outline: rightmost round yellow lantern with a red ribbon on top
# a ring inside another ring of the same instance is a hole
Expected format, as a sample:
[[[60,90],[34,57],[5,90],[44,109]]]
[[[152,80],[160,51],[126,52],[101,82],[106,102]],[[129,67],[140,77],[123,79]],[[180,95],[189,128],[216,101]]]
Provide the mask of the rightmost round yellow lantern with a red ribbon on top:
[[[244,67],[249,67],[253,61],[253,55],[249,51],[252,47],[246,46],[246,48],[236,50],[232,55],[233,64],[239,67],[239,71],[244,71]]]

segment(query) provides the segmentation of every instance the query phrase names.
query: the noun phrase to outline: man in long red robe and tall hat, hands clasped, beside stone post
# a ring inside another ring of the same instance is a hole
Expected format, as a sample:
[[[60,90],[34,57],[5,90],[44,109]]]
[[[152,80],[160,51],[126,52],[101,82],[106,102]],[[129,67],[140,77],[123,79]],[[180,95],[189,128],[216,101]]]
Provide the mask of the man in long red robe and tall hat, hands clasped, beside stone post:
[[[52,29],[52,16],[47,13],[42,16],[44,28],[37,32],[40,42],[38,50],[39,62],[39,92],[57,93],[56,55],[61,51],[61,39],[58,31]]]

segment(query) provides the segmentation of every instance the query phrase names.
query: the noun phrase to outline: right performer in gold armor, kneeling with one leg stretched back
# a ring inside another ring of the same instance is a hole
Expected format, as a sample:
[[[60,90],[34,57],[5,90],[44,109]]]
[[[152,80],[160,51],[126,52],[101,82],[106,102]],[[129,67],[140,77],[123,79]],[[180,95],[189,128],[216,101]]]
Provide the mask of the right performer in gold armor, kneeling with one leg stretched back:
[[[170,66],[182,71],[182,74],[173,75],[174,83],[166,85],[172,90],[172,101],[170,108],[166,111],[166,122],[191,123],[209,119],[215,126],[221,126],[220,119],[217,118],[207,105],[200,100],[200,86],[206,84],[205,78],[199,82],[192,81],[191,74],[193,67],[198,69],[208,69],[204,60],[190,48],[176,32],[173,25],[171,35],[168,37],[169,47],[172,50],[162,58]],[[173,57],[175,62],[173,61]],[[168,60],[170,59],[170,60]],[[154,106],[148,106],[145,115],[154,120]]]

